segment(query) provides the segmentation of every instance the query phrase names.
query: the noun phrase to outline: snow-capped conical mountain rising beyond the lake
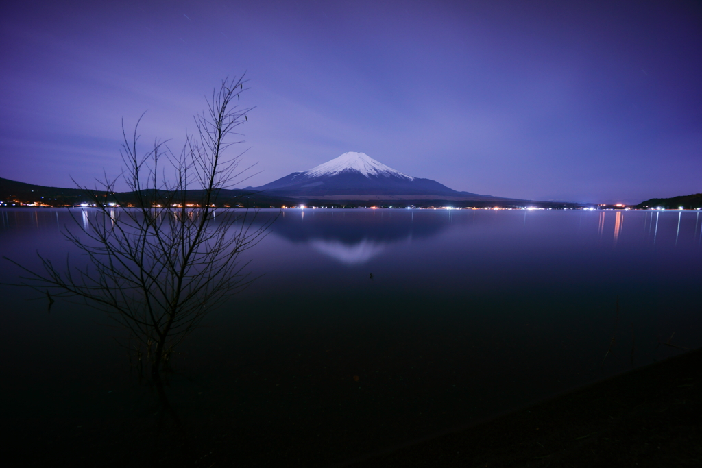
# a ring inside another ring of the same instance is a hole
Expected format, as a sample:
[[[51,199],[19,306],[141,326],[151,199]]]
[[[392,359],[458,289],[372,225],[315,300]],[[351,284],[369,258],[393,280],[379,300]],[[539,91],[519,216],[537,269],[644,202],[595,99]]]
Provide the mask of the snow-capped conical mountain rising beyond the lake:
[[[435,180],[415,178],[364,153],[348,152],[309,171],[295,172],[250,189],[286,196],[441,195],[461,196]]]

